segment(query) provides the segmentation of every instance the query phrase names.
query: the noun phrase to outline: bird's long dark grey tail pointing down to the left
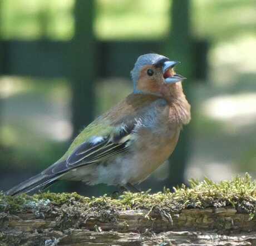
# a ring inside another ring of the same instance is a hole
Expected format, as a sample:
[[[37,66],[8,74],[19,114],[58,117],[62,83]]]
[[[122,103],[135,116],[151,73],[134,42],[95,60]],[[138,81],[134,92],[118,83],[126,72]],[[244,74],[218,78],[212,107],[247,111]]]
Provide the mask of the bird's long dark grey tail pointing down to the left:
[[[44,175],[40,173],[7,190],[6,194],[18,195],[21,193],[32,192],[33,190],[45,189],[55,183],[60,176],[60,174]]]

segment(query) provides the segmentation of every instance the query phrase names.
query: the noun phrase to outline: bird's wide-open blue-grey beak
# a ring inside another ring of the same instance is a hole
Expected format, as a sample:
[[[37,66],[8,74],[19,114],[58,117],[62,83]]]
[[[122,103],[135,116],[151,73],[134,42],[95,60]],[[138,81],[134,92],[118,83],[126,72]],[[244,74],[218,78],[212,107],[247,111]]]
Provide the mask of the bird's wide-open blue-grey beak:
[[[166,61],[164,62],[163,65],[163,74],[164,74],[164,80],[166,83],[171,84],[171,83],[176,83],[179,81],[183,81],[183,79],[186,79],[185,77],[176,74],[174,72],[174,66],[176,64],[179,64],[180,62],[174,62],[174,61]]]

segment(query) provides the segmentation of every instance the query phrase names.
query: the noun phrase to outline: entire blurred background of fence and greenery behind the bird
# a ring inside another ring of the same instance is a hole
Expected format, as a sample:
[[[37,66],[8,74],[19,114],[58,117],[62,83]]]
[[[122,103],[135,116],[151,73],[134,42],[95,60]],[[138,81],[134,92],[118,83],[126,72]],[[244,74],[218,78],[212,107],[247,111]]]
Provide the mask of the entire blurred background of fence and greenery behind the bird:
[[[169,162],[139,185],[256,177],[254,0],[0,0],[0,190],[40,172],[132,91],[137,57],[181,61],[192,106]],[[55,192],[116,190],[60,182]]]

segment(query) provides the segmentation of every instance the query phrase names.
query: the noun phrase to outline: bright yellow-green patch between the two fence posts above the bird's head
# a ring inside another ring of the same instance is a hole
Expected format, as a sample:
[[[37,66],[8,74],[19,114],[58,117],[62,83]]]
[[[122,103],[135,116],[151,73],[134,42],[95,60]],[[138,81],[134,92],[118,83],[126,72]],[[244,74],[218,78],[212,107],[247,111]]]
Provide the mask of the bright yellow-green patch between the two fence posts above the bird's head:
[[[156,39],[168,34],[170,1],[97,0],[100,39]],[[150,16],[150,18],[149,18]]]

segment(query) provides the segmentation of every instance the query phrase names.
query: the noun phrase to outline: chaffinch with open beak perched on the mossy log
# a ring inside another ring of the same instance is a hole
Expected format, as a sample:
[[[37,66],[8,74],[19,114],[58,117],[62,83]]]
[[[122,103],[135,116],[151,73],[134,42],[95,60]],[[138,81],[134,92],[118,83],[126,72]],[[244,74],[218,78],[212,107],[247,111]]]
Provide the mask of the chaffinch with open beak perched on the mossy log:
[[[174,71],[179,63],[156,53],[139,56],[132,93],[88,124],[62,158],[6,194],[44,190],[60,179],[137,192],[136,185],[170,157],[190,122],[185,77]]]

